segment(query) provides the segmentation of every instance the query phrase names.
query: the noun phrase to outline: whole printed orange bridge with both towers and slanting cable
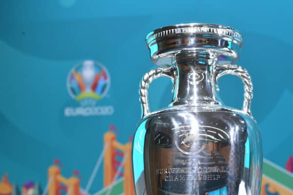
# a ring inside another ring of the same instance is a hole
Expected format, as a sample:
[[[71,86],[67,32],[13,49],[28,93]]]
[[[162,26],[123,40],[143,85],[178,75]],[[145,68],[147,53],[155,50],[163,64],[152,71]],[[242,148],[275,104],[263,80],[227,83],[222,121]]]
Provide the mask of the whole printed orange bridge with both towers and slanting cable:
[[[104,134],[103,150],[85,189],[80,187],[80,179],[77,176],[65,178],[61,174],[61,168],[54,164],[48,169],[48,181],[43,195],[61,195],[62,190],[66,195],[89,195],[90,187],[103,159],[104,189],[93,195],[134,195],[131,151],[131,142],[121,144],[117,141],[116,134],[108,131]]]

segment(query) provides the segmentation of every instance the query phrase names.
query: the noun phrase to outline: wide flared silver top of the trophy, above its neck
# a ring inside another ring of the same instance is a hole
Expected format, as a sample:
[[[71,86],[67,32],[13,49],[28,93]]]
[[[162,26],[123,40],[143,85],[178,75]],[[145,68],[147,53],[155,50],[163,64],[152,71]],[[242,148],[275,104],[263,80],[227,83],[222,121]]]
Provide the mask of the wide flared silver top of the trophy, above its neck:
[[[220,64],[238,59],[241,34],[228,26],[205,23],[177,24],[159,28],[146,36],[152,61],[170,66],[172,56],[183,50],[206,50],[217,54]]]

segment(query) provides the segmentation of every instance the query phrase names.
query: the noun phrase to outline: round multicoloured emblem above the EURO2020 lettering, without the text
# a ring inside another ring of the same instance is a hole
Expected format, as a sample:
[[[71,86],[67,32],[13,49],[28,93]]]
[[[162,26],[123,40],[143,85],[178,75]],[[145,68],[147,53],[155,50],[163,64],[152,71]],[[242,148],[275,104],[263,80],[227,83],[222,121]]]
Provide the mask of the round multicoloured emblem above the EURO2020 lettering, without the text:
[[[103,98],[110,86],[110,77],[103,64],[85,60],[77,64],[67,78],[67,90],[78,101]]]

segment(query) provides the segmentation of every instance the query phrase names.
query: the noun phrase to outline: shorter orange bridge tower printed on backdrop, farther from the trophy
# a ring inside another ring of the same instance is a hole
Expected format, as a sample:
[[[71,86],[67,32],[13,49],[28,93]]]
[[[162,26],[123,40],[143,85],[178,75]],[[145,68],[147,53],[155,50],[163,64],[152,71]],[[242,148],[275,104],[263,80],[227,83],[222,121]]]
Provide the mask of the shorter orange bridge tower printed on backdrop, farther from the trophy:
[[[67,191],[67,195],[80,195],[80,180],[76,176],[63,177],[60,168],[52,165],[48,170],[48,195],[61,195],[61,190]]]

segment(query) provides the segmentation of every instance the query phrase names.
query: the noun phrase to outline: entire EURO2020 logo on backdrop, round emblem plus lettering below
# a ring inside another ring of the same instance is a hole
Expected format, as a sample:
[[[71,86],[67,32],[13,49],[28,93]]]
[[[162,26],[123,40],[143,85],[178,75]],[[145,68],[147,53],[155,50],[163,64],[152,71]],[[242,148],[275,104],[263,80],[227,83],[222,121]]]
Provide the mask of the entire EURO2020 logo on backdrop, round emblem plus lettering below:
[[[110,76],[105,66],[93,60],[77,64],[68,74],[67,90],[72,98],[79,101],[82,107],[67,107],[66,117],[112,115],[112,106],[95,106],[105,97],[110,87]]]

